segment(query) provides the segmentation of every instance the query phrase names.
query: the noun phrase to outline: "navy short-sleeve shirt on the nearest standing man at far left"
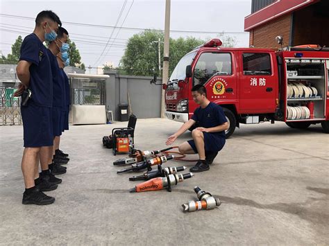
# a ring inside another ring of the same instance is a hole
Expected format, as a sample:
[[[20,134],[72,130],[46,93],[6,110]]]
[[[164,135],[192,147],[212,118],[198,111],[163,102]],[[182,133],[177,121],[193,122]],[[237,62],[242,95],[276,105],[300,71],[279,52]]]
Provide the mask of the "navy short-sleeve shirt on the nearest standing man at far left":
[[[52,107],[53,85],[49,56],[47,48],[35,33],[24,38],[19,60],[32,62],[29,69],[30,84],[28,89],[32,91],[29,103],[34,103],[41,107]]]

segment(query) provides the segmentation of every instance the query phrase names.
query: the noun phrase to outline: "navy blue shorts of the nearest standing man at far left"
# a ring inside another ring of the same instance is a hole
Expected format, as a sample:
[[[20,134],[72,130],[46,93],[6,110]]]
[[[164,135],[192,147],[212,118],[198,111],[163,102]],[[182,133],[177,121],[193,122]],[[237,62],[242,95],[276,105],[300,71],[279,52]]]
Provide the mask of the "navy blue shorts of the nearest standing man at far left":
[[[51,107],[28,103],[21,107],[24,147],[53,146]]]

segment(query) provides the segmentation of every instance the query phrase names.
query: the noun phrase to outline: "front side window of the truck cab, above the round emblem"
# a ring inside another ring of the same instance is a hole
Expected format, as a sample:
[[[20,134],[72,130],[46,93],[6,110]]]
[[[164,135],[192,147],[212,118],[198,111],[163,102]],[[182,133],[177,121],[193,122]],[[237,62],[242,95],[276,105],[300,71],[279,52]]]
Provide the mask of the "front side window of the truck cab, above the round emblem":
[[[231,74],[230,53],[202,53],[194,67],[194,85],[203,85],[214,75]]]

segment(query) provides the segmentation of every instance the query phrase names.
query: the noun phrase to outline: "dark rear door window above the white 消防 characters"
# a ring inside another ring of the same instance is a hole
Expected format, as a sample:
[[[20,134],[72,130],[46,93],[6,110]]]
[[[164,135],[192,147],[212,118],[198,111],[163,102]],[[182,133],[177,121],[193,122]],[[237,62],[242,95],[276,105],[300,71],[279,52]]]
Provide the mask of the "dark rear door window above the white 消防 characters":
[[[243,53],[244,75],[271,75],[269,53]]]

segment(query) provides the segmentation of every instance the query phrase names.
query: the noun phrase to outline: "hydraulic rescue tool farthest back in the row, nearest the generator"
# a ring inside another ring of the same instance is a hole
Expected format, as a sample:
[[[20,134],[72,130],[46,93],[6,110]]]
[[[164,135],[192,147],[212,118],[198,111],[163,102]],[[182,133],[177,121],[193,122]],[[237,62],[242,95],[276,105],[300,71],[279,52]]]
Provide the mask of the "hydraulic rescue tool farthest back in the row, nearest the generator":
[[[117,161],[113,162],[113,165],[124,166],[128,164],[135,164],[141,161],[146,161],[147,159],[153,158],[155,157],[155,155],[158,155],[161,152],[165,152],[167,150],[171,150],[172,148],[173,147],[165,148],[163,150],[145,150],[145,151],[133,149],[128,157],[117,159]]]

